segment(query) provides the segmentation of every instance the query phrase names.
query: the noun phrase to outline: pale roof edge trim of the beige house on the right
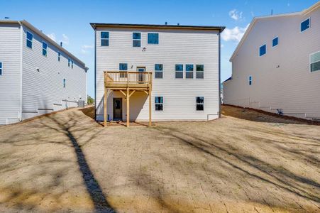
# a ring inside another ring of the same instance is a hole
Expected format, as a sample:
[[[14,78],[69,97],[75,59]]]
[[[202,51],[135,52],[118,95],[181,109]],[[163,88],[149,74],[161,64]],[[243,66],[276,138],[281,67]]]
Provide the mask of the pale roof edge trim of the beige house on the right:
[[[288,17],[288,16],[298,16],[298,15],[307,15],[311,11],[314,11],[315,9],[318,9],[320,7],[320,1],[318,1],[316,4],[310,6],[308,9],[304,9],[303,11],[300,12],[295,12],[295,13],[283,13],[283,14],[278,14],[278,15],[272,15],[272,16],[259,16],[253,18],[251,21],[250,25],[248,26],[247,30],[243,34],[240,42],[238,43],[236,50],[234,50],[233,54],[231,55],[230,62],[233,60],[235,55],[238,53],[238,50],[240,50],[241,46],[243,45],[243,42],[245,41],[245,38],[247,38],[248,34],[252,30],[253,26],[255,26],[255,23],[259,21],[260,19],[266,19],[266,18],[279,18],[279,17]]]

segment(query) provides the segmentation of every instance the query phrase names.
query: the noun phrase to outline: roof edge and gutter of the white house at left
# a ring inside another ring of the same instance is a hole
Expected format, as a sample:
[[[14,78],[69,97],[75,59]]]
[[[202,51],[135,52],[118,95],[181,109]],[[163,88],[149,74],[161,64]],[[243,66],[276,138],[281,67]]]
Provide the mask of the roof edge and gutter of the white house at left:
[[[84,62],[82,62],[81,60],[79,60],[79,58],[75,57],[75,55],[72,55],[72,53],[70,53],[68,50],[66,50],[65,48],[62,48],[62,46],[60,46],[59,44],[57,44],[54,40],[52,40],[50,37],[48,37],[48,35],[45,35],[45,33],[43,33],[42,31],[39,31],[37,28],[35,28],[31,23],[28,23],[28,21],[23,20],[23,21],[13,21],[13,20],[0,20],[0,23],[17,23],[19,25],[24,25],[27,26],[28,28],[30,28],[32,31],[34,31],[35,33],[37,33],[38,35],[40,35],[41,37],[45,38],[45,40],[48,40],[48,42],[50,42],[51,45],[54,45],[58,50],[61,50],[62,52],[64,52],[65,54],[69,55],[70,58],[73,58],[74,60],[76,60],[77,62],[79,62],[83,67],[85,67],[86,70],[88,70],[88,68],[86,67],[86,65],[84,64]]]

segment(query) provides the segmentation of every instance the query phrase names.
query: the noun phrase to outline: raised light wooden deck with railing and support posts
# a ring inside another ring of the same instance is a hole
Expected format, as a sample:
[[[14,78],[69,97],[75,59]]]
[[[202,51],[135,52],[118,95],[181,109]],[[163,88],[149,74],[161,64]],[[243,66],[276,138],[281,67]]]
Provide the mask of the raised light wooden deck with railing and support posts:
[[[104,126],[107,118],[107,100],[109,91],[119,91],[126,97],[127,125],[130,126],[130,97],[136,91],[143,91],[149,96],[149,126],[151,126],[151,91],[153,84],[152,72],[123,72],[105,71],[104,72]]]

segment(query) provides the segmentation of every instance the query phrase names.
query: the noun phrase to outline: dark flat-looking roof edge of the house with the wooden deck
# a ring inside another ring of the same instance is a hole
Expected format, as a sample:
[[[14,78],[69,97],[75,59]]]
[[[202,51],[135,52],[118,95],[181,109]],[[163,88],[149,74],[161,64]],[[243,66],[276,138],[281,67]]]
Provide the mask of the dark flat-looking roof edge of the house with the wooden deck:
[[[94,30],[97,27],[109,28],[153,28],[153,29],[182,29],[182,30],[208,30],[224,31],[225,26],[189,26],[189,25],[159,25],[159,24],[131,24],[131,23],[90,23]]]

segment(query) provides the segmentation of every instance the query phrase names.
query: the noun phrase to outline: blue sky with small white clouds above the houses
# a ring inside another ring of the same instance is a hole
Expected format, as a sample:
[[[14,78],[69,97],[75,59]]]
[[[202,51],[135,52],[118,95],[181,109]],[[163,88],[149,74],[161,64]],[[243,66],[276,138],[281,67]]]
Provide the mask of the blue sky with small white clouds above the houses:
[[[88,94],[94,96],[94,31],[90,22],[154,23],[226,26],[222,35],[221,80],[231,75],[228,62],[245,28],[254,16],[307,9],[316,0],[204,1],[204,0],[113,0],[113,1],[6,1],[0,0],[1,15],[26,19],[43,33],[83,60],[88,72]],[[1,17],[3,16],[3,17]]]

